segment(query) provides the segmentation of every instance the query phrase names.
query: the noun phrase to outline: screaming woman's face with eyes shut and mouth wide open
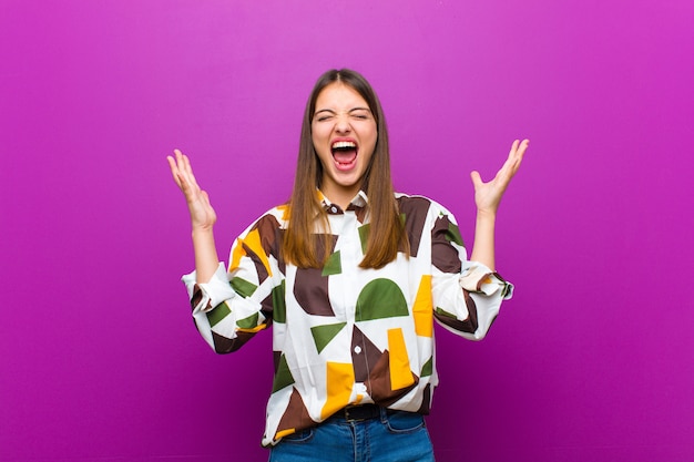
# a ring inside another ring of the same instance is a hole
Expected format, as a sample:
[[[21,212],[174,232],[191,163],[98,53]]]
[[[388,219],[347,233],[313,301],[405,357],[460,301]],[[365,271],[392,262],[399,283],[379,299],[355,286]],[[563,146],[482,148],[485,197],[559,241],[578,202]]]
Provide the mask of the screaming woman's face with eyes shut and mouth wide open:
[[[346,208],[361,187],[378,129],[369,105],[351,86],[334,82],[318,93],[312,140],[323,164],[320,191]]]

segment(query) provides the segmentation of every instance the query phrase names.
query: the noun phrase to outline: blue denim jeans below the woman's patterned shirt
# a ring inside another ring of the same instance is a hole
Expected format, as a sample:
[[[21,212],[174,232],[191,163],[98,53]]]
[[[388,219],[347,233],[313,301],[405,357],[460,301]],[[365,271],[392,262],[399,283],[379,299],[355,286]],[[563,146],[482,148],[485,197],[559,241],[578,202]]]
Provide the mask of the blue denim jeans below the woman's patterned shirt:
[[[386,412],[361,421],[333,417],[317,427],[282,439],[269,462],[433,462],[423,418]]]

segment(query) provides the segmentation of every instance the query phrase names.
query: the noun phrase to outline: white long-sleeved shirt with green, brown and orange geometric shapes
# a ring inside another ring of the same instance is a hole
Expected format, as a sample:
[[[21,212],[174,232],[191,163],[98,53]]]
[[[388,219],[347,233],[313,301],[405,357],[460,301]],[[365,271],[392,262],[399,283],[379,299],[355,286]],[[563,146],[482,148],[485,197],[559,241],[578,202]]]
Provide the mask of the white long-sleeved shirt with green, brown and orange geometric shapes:
[[[202,337],[220,353],[272,326],[275,374],[262,444],[376,403],[427,414],[438,383],[433,321],[482,339],[512,286],[469,261],[455,217],[422,196],[396,194],[410,248],[364,269],[369,220],[360,192],[341,209],[323,194],[331,246],[323,268],[297,268],[279,249],[287,206],[234,242],[206,284],[183,277]]]

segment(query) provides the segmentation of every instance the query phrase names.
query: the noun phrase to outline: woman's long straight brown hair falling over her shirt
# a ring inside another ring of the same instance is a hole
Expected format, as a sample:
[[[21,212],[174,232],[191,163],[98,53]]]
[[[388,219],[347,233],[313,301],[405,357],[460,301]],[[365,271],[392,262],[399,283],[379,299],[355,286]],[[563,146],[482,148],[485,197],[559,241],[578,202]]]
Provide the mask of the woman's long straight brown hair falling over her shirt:
[[[330,254],[328,215],[316,193],[323,181],[323,165],[314,148],[312,122],[318,95],[334,82],[341,82],[359,93],[376,120],[378,138],[361,183],[361,189],[368,196],[370,225],[366,254],[359,266],[381,268],[396,258],[398,249],[409,249],[409,245],[390,178],[390,152],[384,111],[367,80],[349,69],[324,73],[306,104],[294,189],[289,199],[289,223],[282,245],[284,259],[302,268],[320,268]],[[322,234],[316,234],[316,222]]]

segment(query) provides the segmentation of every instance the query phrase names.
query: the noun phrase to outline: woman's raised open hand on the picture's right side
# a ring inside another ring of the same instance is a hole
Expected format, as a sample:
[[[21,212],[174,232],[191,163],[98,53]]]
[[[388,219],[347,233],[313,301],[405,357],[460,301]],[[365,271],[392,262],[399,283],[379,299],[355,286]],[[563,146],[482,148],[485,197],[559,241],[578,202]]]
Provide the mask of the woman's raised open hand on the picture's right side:
[[[523,154],[528,148],[529,140],[522,142],[516,140],[511,145],[511,152],[509,152],[509,158],[503,163],[501,170],[497,172],[497,176],[490,182],[482,182],[480,174],[477,171],[470,173],[472,184],[474,185],[474,204],[477,205],[478,213],[496,215],[499,208],[501,197],[509,186],[511,178],[518,172]]]

